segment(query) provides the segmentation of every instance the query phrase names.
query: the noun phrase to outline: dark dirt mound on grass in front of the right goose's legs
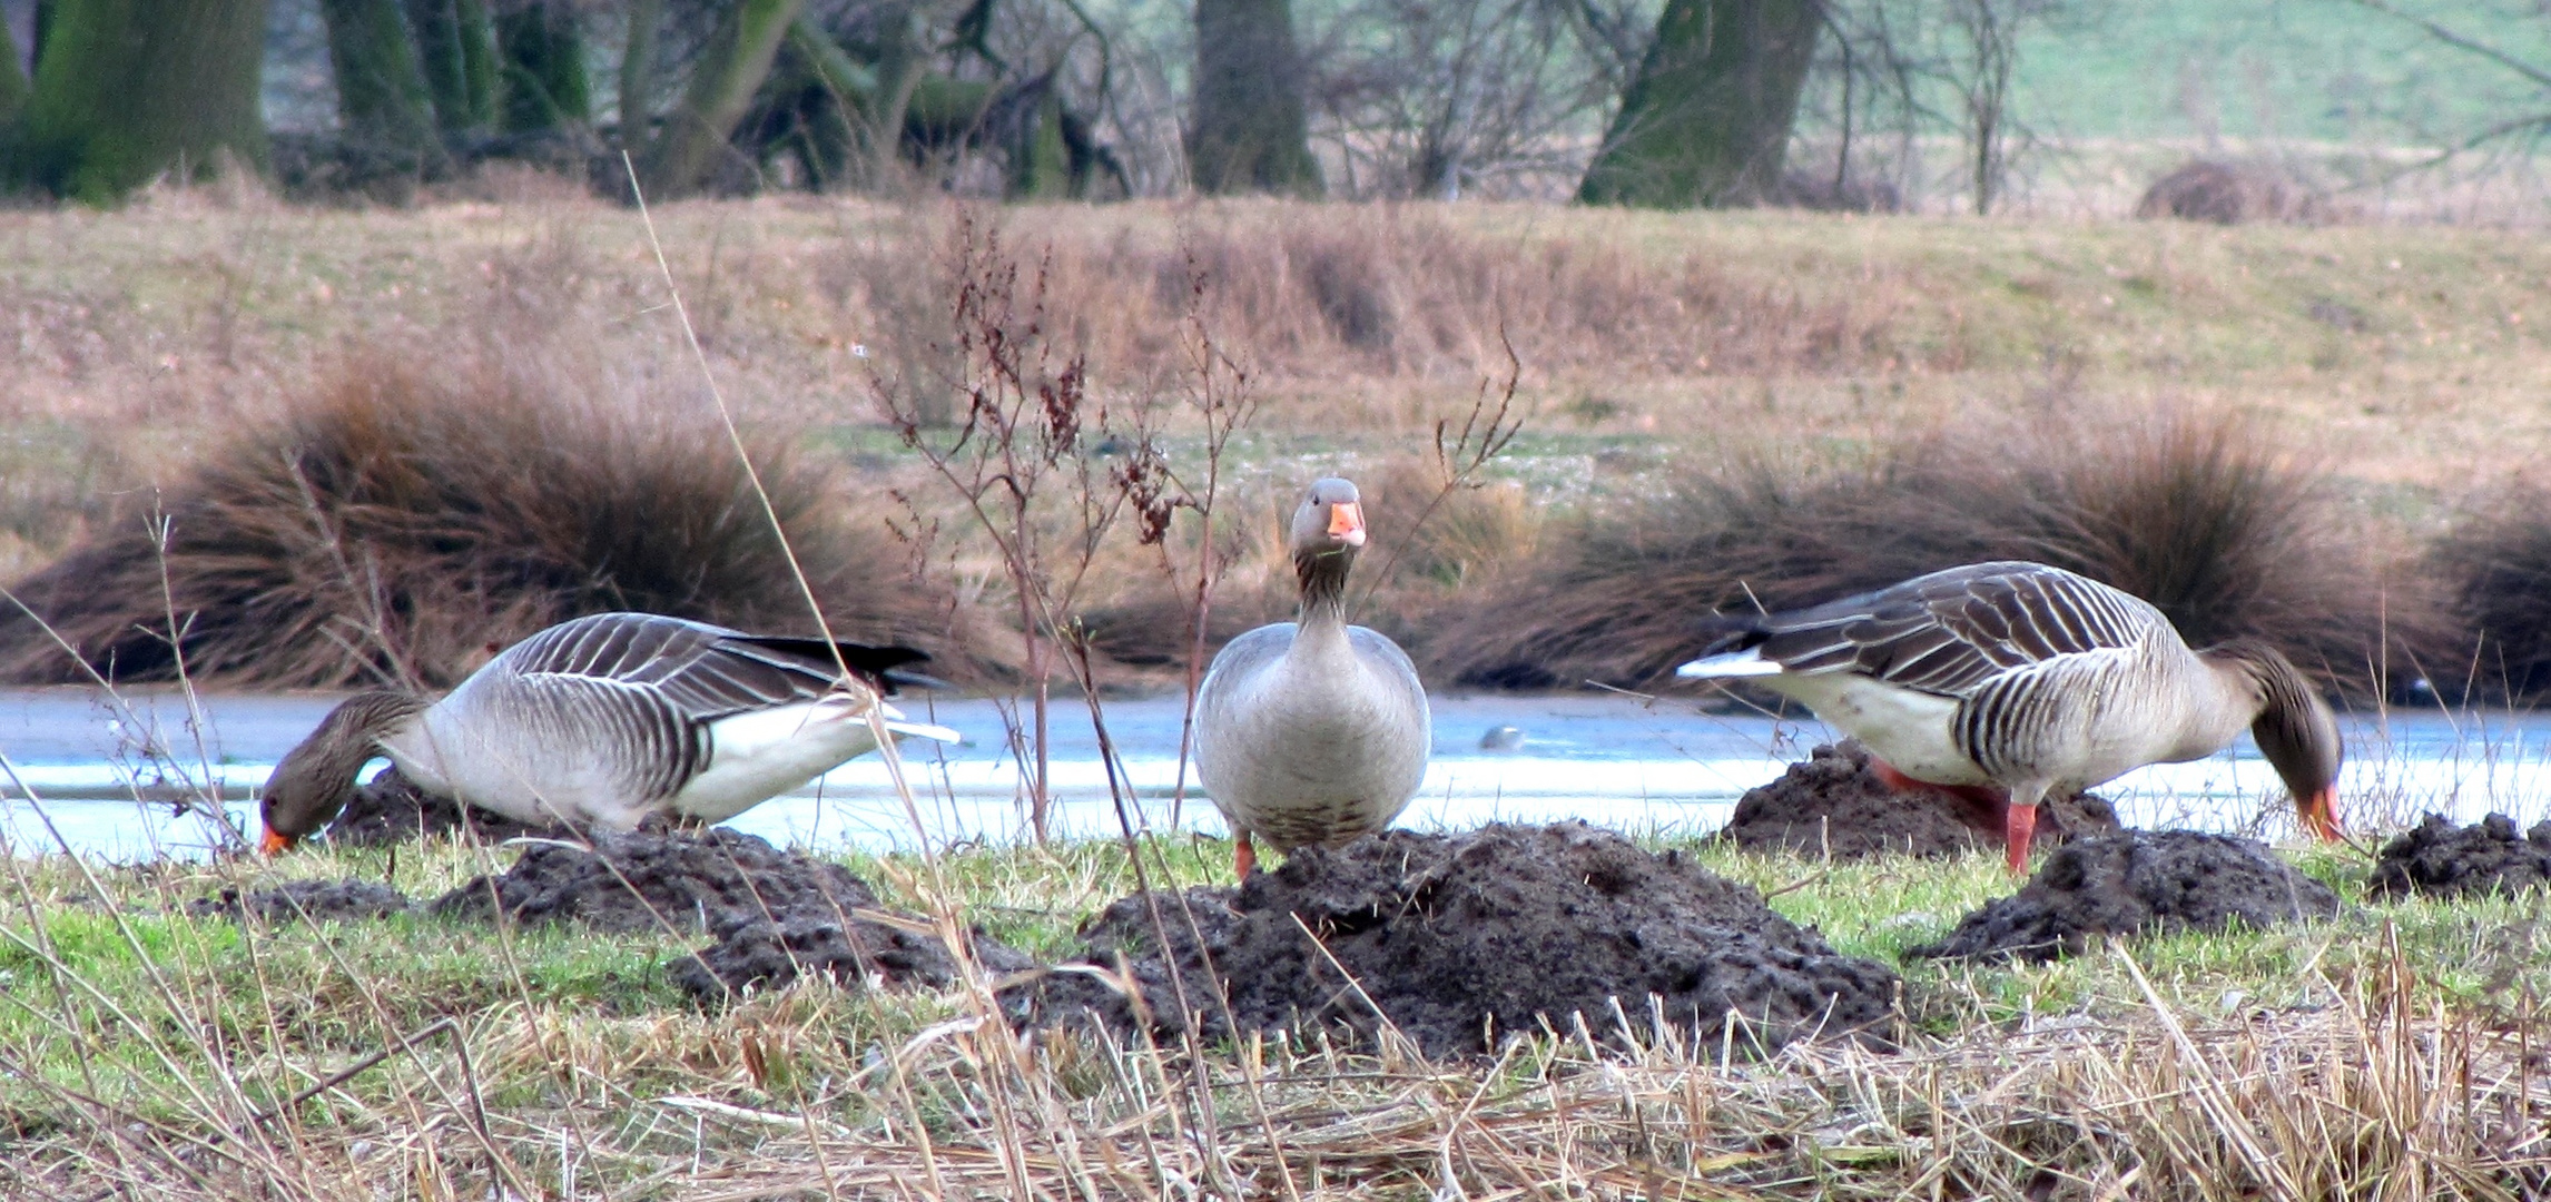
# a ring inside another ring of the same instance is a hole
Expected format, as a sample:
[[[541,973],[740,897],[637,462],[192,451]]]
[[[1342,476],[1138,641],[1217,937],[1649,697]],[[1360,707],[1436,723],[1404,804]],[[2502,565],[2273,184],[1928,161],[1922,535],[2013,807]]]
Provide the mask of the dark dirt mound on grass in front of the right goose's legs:
[[[2094,835],[2056,850],[2015,896],[1987,901],[1926,960],[2061,960],[2094,934],[2219,931],[2339,914],[2339,896],[2263,842],[2189,829]]]

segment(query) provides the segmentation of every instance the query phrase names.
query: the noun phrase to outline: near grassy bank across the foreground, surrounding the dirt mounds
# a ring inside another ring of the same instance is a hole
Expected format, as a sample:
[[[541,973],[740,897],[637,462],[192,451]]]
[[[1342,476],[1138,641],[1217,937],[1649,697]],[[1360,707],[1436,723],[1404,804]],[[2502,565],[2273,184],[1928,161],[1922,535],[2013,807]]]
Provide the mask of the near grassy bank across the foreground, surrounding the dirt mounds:
[[[1893,962],[1990,857],[1691,847]],[[184,916],[276,875],[429,893],[487,852],[10,860],[0,1187],[92,1197],[2515,1197],[2541,1115],[2543,901],[2385,903],[2051,967],[1906,965],[1900,1054],[1589,1046],[1495,1064],[1015,1041],[985,995],[809,985],[696,1011],[691,942],[403,916]],[[1161,842],[1202,880],[1217,845]],[[1133,888],[1117,845],[852,860],[1038,954]],[[2360,896],[2362,860],[2304,865]],[[1158,875],[1156,875],[1158,880]],[[449,1026],[436,1026],[449,1023]],[[406,1044],[403,1044],[406,1039]],[[360,1069],[337,1080],[344,1069]],[[291,1105],[283,1105],[291,1102]]]

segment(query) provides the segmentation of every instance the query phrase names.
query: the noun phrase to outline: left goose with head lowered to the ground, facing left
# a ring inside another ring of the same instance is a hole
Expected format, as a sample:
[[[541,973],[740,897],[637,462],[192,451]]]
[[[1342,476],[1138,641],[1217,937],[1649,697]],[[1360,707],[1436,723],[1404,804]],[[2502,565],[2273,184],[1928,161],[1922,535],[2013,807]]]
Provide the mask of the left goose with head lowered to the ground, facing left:
[[[855,681],[842,681],[834,648]],[[265,781],[265,852],[344,809],[388,755],[418,789],[528,824],[630,829],[651,814],[730,819],[875,750],[867,707],[911,648],[747,635],[651,612],[551,625],[441,702],[365,692],[332,709]],[[903,676],[926,681],[926,676]],[[946,727],[885,730],[957,740]]]

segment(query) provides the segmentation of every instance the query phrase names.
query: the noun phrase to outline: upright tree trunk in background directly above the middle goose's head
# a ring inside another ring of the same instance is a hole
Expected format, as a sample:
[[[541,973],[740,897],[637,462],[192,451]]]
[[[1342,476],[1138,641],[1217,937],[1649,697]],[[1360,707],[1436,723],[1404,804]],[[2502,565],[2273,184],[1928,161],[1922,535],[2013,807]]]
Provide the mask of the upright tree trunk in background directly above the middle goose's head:
[[[1301,79],[1291,0],[1196,0],[1196,191],[1321,194]]]

